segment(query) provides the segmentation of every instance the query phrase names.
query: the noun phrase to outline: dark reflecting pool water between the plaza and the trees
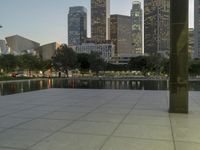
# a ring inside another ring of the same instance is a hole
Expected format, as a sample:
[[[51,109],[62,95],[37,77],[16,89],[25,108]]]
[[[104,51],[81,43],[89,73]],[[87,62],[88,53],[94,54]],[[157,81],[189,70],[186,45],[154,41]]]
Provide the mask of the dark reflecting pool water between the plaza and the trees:
[[[169,82],[162,78],[76,78],[1,81],[0,95],[10,95],[49,88],[168,90]],[[191,91],[200,91],[200,80],[190,81]]]

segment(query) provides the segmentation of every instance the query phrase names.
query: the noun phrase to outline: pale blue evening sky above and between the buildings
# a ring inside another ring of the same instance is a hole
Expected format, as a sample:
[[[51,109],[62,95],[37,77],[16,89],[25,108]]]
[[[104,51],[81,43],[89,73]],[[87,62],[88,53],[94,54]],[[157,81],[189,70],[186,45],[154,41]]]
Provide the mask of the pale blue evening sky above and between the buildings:
[[[111,0],[111,14],[129,15],[133,0]],[[142,0],[140,0],[142,1]],[[21,35],[41,45],[67,43],[67,14],[70,6],[88,10],[90,36],[90,0],[0,0],[0,38]],[[190,3],[189,26],[194,26],[194,0]]]

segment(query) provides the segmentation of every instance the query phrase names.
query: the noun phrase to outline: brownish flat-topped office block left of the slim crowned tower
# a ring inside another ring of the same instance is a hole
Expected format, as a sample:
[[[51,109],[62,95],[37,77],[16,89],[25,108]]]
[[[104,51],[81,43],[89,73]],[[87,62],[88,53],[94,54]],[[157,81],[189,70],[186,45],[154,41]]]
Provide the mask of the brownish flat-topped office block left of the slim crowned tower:
[[[115,45],[115,55],[133,54],[131,17],[111,15],[110,39]]]

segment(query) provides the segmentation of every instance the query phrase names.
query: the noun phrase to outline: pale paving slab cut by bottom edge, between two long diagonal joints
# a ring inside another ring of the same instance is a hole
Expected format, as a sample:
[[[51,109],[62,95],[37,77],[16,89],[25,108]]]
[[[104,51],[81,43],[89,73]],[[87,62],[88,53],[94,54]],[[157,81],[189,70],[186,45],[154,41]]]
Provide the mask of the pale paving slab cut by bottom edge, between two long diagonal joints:
[[[56,133],[31,150],[99,150],[106,136]]]

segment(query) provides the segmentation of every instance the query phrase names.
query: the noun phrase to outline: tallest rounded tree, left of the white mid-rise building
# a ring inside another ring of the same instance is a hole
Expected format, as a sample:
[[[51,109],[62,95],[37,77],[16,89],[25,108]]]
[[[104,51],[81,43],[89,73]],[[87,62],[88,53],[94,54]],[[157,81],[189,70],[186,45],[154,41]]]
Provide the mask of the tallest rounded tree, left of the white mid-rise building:
[[[72,48],[63,44],[57,49],[56,55],[52,58],[52,62],[56,70],[65,72],[68,77],[68,71],[76,68],[77,55]]]

